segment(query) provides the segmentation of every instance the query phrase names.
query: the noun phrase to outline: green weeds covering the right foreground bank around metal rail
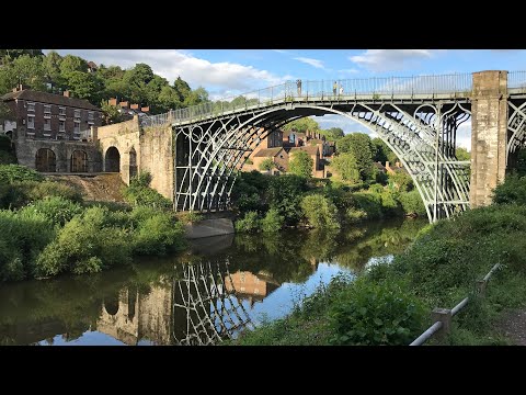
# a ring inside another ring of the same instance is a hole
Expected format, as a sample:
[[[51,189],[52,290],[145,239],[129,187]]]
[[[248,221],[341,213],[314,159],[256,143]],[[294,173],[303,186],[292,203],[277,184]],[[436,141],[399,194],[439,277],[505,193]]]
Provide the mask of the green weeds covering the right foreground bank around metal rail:
[[[235,341],[240,345],[409,345],[431,324],[434,307],[472,302],[455,316],[447,345],[507,345],[502,313],[526,305],[526,178],[508,177],[491,206],[428,225],[391,263],[336,278],[284,319]],[[485,298],[476,280],[493,264]],[[433,343],[433,342],[432,342]]]

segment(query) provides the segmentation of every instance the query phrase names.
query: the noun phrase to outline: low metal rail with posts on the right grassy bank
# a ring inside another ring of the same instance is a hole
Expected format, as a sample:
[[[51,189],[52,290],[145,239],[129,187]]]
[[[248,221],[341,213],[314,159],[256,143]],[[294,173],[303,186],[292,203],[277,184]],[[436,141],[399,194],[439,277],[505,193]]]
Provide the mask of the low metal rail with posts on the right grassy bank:
[[[481,296],[484,295],[485,286],[491,275],[499,268],[500,268],[499,263],[494,264],[493,268],[491,268],[491,270],[488,272],[488,274],[485,274],[482,280],[477,282],[478,291]],[[413,342],[411,342],[411,345],[409,346],[422,346],[424,342],[426,342],[436,334],[441,334],[441,337],[444,337],[445,335],[447,335],[450,330],[451,318],[455,315],[457,315],[464,307],[466,307],[468,302],[469,302],[469,296],[465,297],[462,301],[460,301],[460,303],[458,303],[451,309],[435,308],[433,311],[433,317],[436,318],[436,321],[431,327],[428,327],[422,335],[420,335],[416,339],[414,339]]]

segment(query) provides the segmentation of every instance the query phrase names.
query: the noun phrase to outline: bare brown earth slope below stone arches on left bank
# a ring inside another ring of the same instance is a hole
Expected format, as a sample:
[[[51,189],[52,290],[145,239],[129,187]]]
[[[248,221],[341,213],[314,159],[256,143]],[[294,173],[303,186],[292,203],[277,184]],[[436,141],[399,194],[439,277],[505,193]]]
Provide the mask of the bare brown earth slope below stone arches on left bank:
[[[79,190],[85,201],[124,202],[121,190],[125,183],[118,173],[46,176]]]

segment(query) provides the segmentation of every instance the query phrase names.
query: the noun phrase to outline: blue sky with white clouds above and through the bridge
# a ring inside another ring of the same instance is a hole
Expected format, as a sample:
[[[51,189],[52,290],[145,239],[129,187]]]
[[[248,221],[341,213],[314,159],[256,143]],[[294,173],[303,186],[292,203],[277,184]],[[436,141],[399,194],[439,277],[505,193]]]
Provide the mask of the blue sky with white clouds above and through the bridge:
[[[48,53],[50,49],[45,49]],[[170,83],[180,76],[192,89],[205,88],[217,100],[287,80],[335,80],[371,77],[447,75],[482,70],[526,70],[524,49],[55,49],[95,64],[151,66]],[[322,128],[365,132],[339,115],[315,117]],[[457,134],[470,149],[469,122]]]

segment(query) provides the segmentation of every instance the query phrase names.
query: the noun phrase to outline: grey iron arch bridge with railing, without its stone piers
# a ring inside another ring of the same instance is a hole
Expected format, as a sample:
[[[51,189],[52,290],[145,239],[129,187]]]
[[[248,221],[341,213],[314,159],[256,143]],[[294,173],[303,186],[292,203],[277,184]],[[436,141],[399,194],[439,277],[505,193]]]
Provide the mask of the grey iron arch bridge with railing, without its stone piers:
[[[508,74],[506,159],[526,142],[526,72]],[[412,177],[430,222],[470,204],[470,162],[455,156],[471,116],[471,74],[286,82],[228,101],[145,119],[173,128],[174,202],[181,211],[230,204],[237,172],[273,131],[305,116],[340,114],[376,133]]]

